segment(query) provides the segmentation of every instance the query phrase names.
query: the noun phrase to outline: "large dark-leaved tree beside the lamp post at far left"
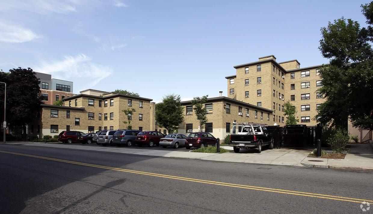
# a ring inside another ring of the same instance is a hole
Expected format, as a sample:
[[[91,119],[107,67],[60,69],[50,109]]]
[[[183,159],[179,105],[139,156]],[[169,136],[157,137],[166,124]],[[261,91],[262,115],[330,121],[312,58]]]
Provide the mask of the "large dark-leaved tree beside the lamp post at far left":
[[[41,104],[40,81],[31,68],[13,68],[9,73],[0,72],[0,82],[6,83],[6,120],[13,130],[23,131],[26,137],[26,125],[34,121]],[[4,84],[0,85],[0,103],[4,103]],[[4,109],[0,110],[3,121]]]

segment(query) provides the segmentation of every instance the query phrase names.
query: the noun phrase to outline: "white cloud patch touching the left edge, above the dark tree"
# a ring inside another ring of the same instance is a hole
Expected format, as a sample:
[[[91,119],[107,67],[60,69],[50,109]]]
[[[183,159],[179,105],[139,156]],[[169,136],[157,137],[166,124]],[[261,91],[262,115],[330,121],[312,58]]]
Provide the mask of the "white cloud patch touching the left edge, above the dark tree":
[[[21,26],[15,26],[0,22],[0,41],[1,42],[28,42],[41,36],[32,32],[30,29]]]

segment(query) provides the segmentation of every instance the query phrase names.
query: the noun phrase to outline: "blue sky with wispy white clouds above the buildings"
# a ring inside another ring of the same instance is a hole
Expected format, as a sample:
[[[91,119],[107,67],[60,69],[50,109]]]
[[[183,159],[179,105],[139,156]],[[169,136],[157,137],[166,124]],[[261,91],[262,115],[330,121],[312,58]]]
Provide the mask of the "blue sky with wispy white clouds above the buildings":
[[[227,96],[233,66],[275,55],[301,68],[329,63],[320,28],[366,26],[360,0],[1,0],[0,69],[32,68],[86,89],[161,102]]]

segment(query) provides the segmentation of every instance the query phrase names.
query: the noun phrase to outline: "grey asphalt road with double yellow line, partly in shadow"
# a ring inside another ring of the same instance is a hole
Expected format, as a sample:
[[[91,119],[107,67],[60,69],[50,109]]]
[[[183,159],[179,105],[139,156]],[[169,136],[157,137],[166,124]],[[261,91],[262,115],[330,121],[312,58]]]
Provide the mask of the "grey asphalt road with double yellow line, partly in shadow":
[[[0,145],[0,172],[1,214],[373,213],[368,171]]]

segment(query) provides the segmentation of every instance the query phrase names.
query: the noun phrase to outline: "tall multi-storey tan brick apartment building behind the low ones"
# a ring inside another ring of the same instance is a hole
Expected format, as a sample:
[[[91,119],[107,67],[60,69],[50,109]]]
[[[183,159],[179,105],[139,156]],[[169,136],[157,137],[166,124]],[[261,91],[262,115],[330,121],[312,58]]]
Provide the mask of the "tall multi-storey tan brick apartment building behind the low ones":
[[[228,97],[272,109],[272,121],[285,125],[284,103],[290,100],[297,108],[298,124],[316,125],[312,120],[316,108],[324,102],[316,90],[322,86],[319,66],[300,68],[298,60],[276,62],[274,55],[260,57],[259,61],[234,66],[236,75],[228,80]]]

